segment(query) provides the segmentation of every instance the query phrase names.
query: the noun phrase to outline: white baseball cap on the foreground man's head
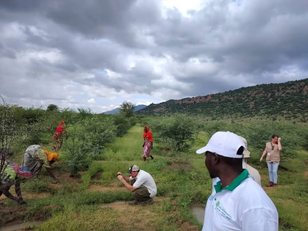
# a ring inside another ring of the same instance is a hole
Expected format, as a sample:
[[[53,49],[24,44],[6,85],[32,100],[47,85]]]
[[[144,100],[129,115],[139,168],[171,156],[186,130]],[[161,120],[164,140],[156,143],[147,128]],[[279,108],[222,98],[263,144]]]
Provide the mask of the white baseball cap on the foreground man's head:
[[[242,155],[237,155],[237,150],[240,147],[246,150],[245,144],[240,136],[233,132],[216,132],[209,140],[208,144],[197,150],[197,154],[204,152],[215,152],[220,156],[231,158],[242,158]]]

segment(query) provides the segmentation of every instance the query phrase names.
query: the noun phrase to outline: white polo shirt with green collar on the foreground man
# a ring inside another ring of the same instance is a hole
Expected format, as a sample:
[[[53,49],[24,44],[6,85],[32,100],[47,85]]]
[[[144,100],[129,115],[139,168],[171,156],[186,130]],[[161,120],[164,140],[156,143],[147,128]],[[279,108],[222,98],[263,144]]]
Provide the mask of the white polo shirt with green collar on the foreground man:
[[[202,231],[278,231],[278,212],[265,191],[245,169],[227,187],[213,185]]]

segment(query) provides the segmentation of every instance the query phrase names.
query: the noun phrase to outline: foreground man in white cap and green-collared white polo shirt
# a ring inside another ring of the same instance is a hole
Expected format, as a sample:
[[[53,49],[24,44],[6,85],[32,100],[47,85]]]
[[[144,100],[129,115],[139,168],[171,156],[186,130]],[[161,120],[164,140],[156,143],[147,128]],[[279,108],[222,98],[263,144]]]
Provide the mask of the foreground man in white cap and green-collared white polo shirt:
[[[232,132],[216,132],[205,153],[210,177],[219,177],[206,207],[202,231],[278,231],[278,212],[265,191],[243,169],[245,144]]]

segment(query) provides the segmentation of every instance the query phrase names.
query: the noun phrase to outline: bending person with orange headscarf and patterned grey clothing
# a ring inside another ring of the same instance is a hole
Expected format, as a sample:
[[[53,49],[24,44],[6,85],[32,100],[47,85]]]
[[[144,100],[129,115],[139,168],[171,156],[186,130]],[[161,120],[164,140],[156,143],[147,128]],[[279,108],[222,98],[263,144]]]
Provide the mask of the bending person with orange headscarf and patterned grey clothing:
[[[48,175],[51,176],[57,183],[60,183],[51,171],[51,165],[55,163],[55,161],[59,162],[59,155],[57,153],[48,152],[40,145],[34,144],[26,149],[22,160],[22,167],[30,168],[31,173],[36,178],[39,178],[39,173],[41,172],[44,164]]]

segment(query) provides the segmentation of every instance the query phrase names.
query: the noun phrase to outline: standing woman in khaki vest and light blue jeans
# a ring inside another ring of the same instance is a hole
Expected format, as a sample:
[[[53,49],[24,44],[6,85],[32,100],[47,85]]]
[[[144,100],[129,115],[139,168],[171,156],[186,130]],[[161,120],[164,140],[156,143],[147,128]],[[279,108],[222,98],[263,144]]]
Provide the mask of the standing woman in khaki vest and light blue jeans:
[[[281,138],[278,135],[274,134],[272,136],[272,141],[265,144],[264,152],[260,158],[260,162],[263,160],[263,157],[266,155],[266,163],[269,169],[270,183],[266,187],[276,187],[277,184],[277,170],[280,162],[280,151],[282,146],[280,143]]]

